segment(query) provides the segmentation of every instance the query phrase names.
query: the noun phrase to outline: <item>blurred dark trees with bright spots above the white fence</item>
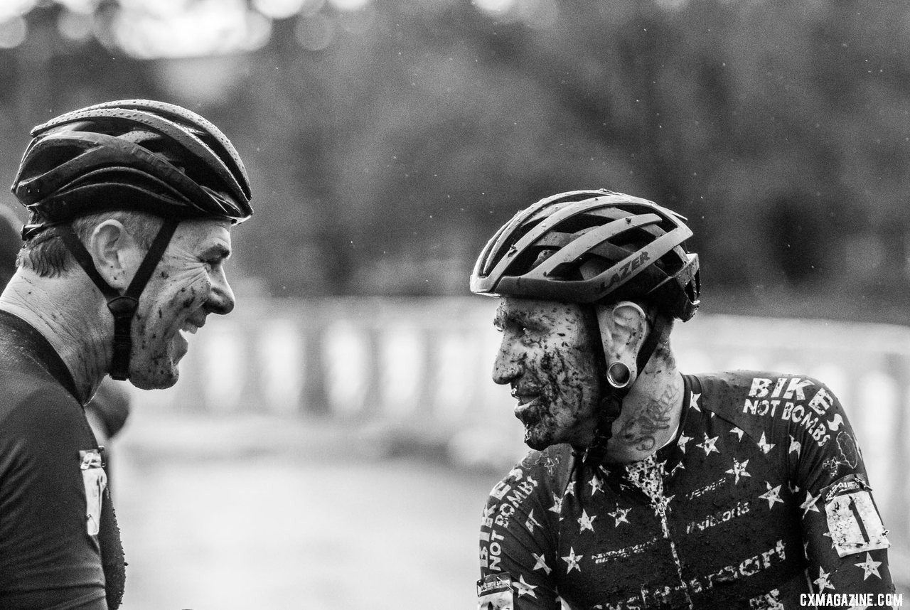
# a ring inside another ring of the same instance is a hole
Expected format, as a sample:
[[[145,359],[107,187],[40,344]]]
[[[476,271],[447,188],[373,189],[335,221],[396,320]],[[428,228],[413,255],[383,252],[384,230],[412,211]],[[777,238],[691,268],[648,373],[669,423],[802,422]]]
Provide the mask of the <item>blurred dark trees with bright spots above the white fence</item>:
[[[705,310],[906,321],[899,0],[0,4],[2,175],[66,110],[195,109],[253,181],[238,292],[463,294],[517,209],[606,187],[690,219]]]

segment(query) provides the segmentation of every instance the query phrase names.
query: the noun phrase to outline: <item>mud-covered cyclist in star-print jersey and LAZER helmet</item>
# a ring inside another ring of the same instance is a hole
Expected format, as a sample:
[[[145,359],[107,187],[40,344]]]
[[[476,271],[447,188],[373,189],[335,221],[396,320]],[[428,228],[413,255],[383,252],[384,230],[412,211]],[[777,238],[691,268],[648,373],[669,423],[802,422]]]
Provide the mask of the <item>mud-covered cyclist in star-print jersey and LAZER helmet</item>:
[[[607,190],[545,198],[470,279],[501,297],[493,380],[532,450],[490,493],[480,608],[877,605],[886,531],[834,394],[803,375],[682,374],[700,299],[684,219]],[[814,595],[814,596],[811,596]],[[848,604],[849,605],[849,604]]]

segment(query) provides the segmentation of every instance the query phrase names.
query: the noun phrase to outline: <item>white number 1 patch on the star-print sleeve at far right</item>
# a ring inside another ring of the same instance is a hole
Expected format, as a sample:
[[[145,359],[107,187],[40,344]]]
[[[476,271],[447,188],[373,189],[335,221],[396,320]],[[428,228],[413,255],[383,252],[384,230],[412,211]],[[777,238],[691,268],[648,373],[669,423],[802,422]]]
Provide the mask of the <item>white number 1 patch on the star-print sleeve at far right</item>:
[[[886,549],[885,525],[864,481],[853,476],[834,483],[825,495],[824,513],[837,555]]]

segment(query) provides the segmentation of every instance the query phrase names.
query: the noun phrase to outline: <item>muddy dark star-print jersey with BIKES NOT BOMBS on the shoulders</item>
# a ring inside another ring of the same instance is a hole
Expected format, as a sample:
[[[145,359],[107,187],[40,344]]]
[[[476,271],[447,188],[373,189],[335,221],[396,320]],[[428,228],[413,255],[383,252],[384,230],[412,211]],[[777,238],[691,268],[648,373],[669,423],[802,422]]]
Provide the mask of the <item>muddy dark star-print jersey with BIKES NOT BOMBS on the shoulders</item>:
[[[648,459],[595,472],[554,445],[493,488],[481,610],[799,608],[801,594],[894,591],[862,455],[824,384],[735,371],[684,385],[680,431]]]

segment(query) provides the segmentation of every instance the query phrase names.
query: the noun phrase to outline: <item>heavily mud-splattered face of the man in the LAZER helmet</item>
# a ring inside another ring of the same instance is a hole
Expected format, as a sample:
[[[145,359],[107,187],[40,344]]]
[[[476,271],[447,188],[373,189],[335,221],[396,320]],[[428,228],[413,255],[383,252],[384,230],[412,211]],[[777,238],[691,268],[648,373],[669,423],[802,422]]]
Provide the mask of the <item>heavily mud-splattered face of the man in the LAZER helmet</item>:
[[[558,442],[587,445],[600,391],[581,307],[504,298],[494,324],[502,342],[493,381],[511,385],[525,442],[538,450]]]

